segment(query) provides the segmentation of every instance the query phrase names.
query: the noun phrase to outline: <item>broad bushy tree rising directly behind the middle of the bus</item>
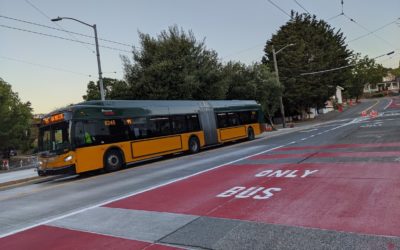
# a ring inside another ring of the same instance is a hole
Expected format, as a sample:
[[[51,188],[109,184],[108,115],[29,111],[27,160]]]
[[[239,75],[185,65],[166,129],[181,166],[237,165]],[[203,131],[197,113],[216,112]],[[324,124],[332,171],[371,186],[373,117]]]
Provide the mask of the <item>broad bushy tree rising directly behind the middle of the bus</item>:
[[[217,53],[177,26],[157,38],[139,33],[132,62],[123,57],[129,99],[222,99]]]

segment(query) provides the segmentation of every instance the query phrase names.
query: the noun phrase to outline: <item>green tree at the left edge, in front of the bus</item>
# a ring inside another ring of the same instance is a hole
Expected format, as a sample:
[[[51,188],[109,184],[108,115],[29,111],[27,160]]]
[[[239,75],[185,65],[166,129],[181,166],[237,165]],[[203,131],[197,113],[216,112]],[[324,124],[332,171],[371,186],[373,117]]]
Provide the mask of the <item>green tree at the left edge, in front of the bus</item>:
[[[31,146],[31,120],[30,102],[21,102],[11,85],[0,78],[0,150],[28,150]]]

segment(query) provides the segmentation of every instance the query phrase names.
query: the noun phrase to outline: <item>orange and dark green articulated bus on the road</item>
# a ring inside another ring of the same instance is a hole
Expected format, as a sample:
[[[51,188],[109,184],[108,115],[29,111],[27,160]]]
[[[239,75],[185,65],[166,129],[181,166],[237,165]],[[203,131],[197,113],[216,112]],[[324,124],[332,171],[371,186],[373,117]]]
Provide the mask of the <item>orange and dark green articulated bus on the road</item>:
[[[261,133],[255,101],[88,101],[46,115],[38,174],[118,170],[127,164]]]

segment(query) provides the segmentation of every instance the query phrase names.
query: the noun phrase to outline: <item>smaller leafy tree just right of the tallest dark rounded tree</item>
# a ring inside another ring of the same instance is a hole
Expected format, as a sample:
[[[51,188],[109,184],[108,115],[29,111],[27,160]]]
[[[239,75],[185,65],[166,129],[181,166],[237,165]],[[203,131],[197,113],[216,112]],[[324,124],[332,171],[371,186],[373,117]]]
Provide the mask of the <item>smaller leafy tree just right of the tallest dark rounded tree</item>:
[[[360,58],[360,54],[356,54],[352,61],[355,66],[351,69],[352,74],[346,81],[345,87],[348,97],[358,99],[363,94],[364,85],[382,81],[382,77],[387,74],[387,69],[367,56]]]

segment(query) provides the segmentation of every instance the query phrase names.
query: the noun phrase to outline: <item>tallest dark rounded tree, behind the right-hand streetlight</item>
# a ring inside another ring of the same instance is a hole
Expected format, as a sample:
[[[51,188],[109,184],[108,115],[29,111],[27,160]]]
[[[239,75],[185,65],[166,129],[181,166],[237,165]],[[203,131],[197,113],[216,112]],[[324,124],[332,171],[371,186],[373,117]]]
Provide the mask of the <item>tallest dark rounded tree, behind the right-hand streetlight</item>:
[[[315,16],[292,12],[292,18],[267,41],[263,63],[273,68],[272,45],[277,54],[280,81],[284,86],[283,101],[288,114],[298,114],[311,107],[324,107],[334,95],[336,85],[343,85],[350,69],[324,74],[302,76],[349,65],[351,52],[345,38],[323,20]]]

